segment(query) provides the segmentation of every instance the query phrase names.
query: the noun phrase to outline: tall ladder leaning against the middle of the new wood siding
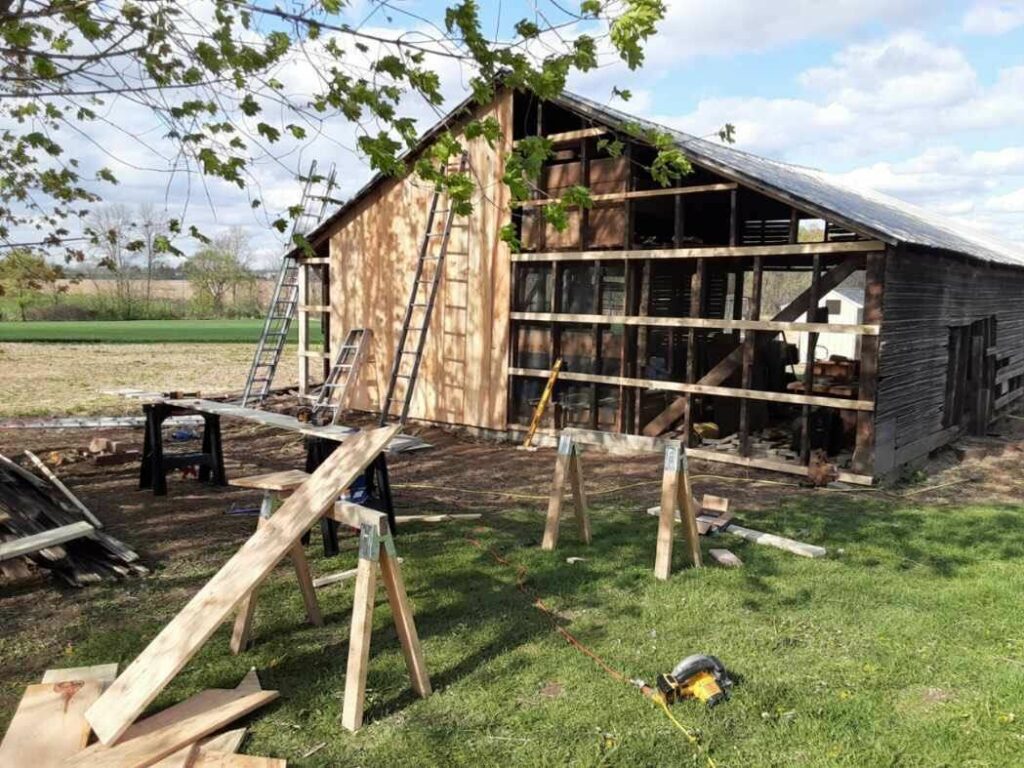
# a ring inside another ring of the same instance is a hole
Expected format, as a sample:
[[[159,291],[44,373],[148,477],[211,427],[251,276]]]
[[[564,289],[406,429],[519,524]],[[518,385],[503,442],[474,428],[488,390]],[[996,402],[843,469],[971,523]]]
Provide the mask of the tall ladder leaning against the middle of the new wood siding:
[[[468,167],[469,158],[463,153],[456,170],[465,173]],[[441,168],[442,173],[449,171],[449,167]],[[442,199],[447,208],[439,207]],[[441,222],[440,230],[434,228],[438,220]],[[398,348],[395,350],[394,362],[391,366],[387,394],[381,408],[381,426],[395,418],[398,424],[404,425],[409,417],[409,407],[413,401],[420,361],[423,359],[423,347],[430,327],[430,315],[433,312],[434,300],[437,298],[437,287],[444,274],[444,256],[447,253],[454,220],[455,209],[451,200],[441,187],[435,187],[427,211],[427,226],[423,240],[420,241],[413,290],[406,305],[401,332],[398,334]],[[396,408],[398,403],[401,403],[400,410]]]

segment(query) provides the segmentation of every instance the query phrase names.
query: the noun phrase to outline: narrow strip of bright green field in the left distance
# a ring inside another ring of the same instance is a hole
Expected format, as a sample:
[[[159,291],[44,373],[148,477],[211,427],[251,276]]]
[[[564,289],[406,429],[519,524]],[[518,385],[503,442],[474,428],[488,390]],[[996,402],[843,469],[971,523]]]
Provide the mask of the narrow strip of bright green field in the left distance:
[[[252,344],[262,329],[259,318],[0,323],[0,342]],[[318,336],[318,323],[310,323],[310,334]],[[298,329],[292,324],[289,338],[297,337]]]

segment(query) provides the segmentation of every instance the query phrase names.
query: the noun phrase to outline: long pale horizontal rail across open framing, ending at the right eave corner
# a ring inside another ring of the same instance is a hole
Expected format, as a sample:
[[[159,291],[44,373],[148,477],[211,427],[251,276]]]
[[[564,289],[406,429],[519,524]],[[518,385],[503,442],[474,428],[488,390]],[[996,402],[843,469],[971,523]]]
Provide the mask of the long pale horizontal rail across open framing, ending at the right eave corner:
[[[708,246],[702,248],[647,248],[628,251],[548,251],[513,253],[512,261],[611,261],[641,259],[737,259],[754,256],[813,256],[819,254],[873,253],[885,251],[878,240],[847,243],[792,243],[778,246]]]

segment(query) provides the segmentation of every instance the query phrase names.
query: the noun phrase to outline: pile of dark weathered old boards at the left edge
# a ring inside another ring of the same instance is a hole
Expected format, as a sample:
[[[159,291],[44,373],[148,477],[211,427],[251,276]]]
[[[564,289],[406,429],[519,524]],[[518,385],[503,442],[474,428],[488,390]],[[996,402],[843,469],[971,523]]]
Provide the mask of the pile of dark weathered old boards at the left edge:
[[[43,477],[0,455],[0,570],[24,574],[28,560],[75,587],[148,572],[45,464],[27,456]]]

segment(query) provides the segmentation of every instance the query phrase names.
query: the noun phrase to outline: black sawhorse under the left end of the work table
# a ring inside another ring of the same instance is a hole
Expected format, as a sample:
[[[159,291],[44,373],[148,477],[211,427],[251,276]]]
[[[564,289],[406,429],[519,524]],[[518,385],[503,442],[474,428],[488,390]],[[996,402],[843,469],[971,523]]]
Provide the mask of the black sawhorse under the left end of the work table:
[[[182,467],[199,467],[200,482],[227,484],[224,474],[224,453],[220,443],[220,417],[204,414],[166,402],[142,406],[145,435],[142,438],[142,462],[139,466],[138,487],[153,488],[154,496],[167,496],[167,472]],[[203,450],[199,453],[164,455],[164,422],[171,416],[203,417]]]

